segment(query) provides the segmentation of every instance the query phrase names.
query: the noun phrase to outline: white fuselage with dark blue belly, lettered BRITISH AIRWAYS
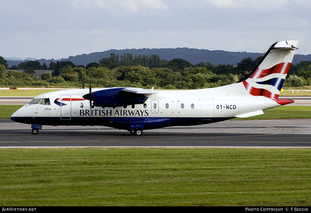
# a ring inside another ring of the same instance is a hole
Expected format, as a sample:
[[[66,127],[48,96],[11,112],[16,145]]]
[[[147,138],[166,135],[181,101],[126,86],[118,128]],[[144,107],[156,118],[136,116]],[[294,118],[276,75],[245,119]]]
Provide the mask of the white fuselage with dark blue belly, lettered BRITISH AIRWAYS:
[[[95,88],[92,91],[102,89]],[[49,98],[50,105],[40,104],[38,100],[38,103],[21,107],[11,118],[21,123],[39,125],[103,125],[118,129],[129,129],[129,126],[136,125],[142,129],[154,129],[248,117],[280,106],[267,97],[236,96],[234,91],[231,92],[233,95],[230,92],[222,94],[221,91],[219,89],[216,94],[213,88],[156,91],[156,94],[149,95],[144,104],[94,107],[82,97],[88,89],[61,90],[35,97],[40,100]]]

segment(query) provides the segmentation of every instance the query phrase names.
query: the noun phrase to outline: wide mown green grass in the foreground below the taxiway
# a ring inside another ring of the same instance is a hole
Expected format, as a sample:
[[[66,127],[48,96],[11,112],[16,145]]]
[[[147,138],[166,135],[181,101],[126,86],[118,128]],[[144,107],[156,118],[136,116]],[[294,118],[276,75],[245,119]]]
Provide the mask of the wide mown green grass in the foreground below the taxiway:
[[[310,206],[309,148],[0,149],[1,206]]]

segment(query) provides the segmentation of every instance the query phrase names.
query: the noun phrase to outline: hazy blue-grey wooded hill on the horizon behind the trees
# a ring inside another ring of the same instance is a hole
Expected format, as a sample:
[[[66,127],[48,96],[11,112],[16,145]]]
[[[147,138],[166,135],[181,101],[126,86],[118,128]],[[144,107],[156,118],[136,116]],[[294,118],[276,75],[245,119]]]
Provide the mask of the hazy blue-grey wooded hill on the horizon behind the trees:
[[[206,50],[206,49],[194,49],[194,48],[161,48],[161,49],[123,49],[123,50],[116,50],[111,49],[103,52],[93,52],[90,54],[82,54],[77,56],[70,56],[67,59],[51,59],[53,62],[57,61],[72,61],[75,65],[87,65],[91,62],[99,62],[100,59],[104,57],[110,57],[110,53],[114,52],[115,54],[121,55],[123,53],[132,53],[133,56],[135,55],[152,55],[156,54],[160,57],[160,59],[166,59],[168,61],[174,58],[181,58],[184,60],[189,61],[193,65],[202,62],[211,62],[216,66],[219,64],[232,64],[237,65],[242,59],[251,57],[253,60],[259,56],[264,55],[264,53],[257,53],[257,52],[228,52],[224,50]],[[9,67],[12,65],[18,65],[21,62],[25,62],[29,60],[7,60]],[[41,64],[44,62],[49,66],[50,60],[46,59],[39,59]],[[311,61],[311,54],[309,55],[300,55],[296,54],[293,59],[293,64],[297,64],[300,61]]]

